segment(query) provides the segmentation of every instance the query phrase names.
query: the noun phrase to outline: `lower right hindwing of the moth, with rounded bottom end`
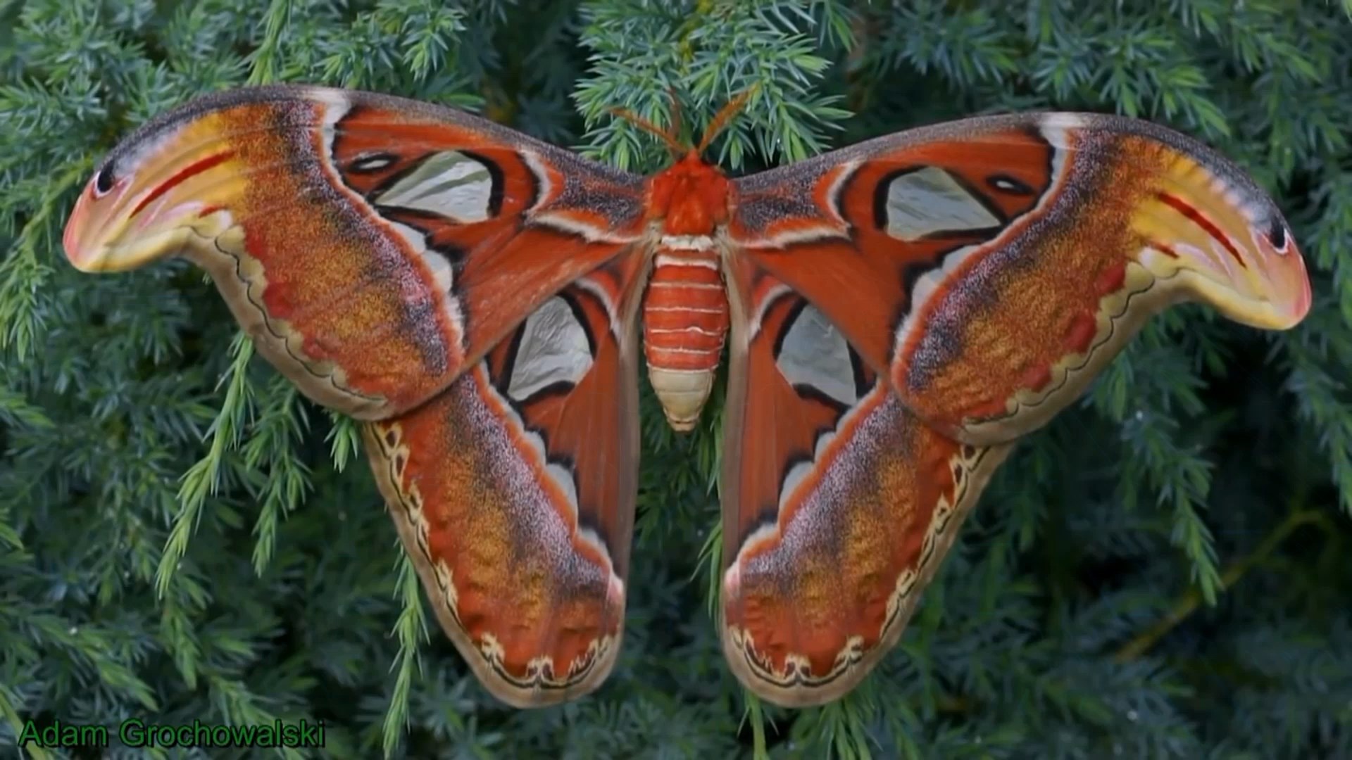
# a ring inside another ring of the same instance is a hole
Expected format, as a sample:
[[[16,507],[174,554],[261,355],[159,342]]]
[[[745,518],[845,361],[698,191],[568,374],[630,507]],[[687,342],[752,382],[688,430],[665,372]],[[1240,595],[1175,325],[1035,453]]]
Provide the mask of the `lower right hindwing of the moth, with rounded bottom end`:
[[[819,705],[896,644],[1011,445],[936,431],[806,299],[729,272],[723,649],[764,699]]]

